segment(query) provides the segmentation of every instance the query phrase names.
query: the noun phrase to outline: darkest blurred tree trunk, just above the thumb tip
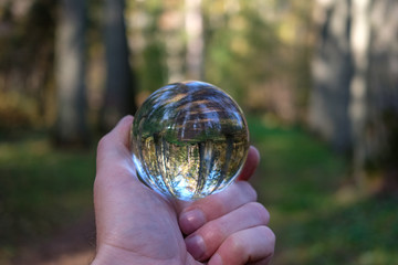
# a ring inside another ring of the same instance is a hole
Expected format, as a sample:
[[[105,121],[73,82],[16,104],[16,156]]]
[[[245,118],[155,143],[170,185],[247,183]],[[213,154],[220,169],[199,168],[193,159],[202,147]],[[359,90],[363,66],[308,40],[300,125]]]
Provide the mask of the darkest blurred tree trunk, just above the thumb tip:
[[[105,98],[100,128],[109,130],[127,114],[134,114],[134,80],[124,20],[124,0],[105,0]]]

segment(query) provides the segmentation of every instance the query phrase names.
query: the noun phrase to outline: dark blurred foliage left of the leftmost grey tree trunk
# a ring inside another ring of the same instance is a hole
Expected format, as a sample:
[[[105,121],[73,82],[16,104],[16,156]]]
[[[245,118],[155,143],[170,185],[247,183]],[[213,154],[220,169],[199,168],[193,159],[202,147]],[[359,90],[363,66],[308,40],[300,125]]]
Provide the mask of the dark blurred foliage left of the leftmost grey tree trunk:
[[[0,3],[0,129],[43,124],[53,92],[56,1]],[[6,103],[6,104],[4,104]]]

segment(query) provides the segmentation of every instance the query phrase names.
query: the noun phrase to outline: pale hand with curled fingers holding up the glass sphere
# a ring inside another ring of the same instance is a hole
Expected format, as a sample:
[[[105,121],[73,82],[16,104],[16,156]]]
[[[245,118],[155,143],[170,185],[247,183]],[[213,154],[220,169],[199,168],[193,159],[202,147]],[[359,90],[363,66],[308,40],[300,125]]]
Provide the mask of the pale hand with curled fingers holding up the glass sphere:
[[[269,264],[275,236],[266,209],[247,181],[259,163],[251,147],[226,190],[195,202],[166,199],[136,177],[129,151],[133,117],[97,148],[94,205],[97,252],[92,265]]]

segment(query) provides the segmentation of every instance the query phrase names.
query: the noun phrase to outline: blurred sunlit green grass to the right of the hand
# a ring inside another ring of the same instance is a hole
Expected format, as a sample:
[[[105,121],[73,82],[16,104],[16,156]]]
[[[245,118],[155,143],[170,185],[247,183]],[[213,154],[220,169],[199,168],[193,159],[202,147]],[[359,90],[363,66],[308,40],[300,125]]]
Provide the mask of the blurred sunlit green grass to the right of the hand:
[[[273,264],[394,264],[397,198],[359,197],[347,161],[298,128],[249,118],[260,148],[253,184],[276,234]]]

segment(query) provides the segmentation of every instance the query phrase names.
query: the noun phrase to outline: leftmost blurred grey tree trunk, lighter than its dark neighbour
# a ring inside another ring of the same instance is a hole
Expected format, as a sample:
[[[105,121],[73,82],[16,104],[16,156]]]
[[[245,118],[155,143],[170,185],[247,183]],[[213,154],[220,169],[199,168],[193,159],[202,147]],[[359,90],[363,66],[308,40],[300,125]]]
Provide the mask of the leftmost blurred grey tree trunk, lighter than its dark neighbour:
[[[56,35],[59,145],[87,144],[85,95],[85,1],[62,0]]]

